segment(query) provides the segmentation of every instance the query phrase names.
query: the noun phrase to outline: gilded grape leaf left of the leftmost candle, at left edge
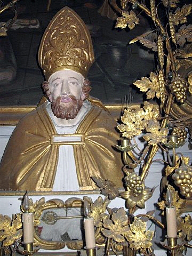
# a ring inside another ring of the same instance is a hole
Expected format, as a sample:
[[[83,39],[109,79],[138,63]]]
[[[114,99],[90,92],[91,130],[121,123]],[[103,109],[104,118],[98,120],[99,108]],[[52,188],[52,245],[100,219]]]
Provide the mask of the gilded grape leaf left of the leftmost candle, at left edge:
[[[17,214],[15,219],[0,214],[0,241],[3,246],[9,246],[22,236],[21,214]]]

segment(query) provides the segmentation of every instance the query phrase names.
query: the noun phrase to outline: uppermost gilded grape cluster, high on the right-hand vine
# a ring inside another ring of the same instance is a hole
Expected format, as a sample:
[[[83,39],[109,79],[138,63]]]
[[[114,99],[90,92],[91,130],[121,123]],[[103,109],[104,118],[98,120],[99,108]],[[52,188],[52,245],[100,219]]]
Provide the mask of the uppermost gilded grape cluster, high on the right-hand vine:
[[[175,99],[182,104],[187,100],[188,83],[181,77],[175,77],[170,84],[171,93],[175,96]]]

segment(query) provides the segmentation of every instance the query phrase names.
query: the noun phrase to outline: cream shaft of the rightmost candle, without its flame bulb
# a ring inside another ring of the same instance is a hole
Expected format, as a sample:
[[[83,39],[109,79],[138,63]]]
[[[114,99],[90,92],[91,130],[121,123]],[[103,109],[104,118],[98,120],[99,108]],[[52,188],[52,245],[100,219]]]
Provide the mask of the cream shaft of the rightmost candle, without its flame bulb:
[[[177,237],[177,220],[175,207],[166,207],[167,236]]]

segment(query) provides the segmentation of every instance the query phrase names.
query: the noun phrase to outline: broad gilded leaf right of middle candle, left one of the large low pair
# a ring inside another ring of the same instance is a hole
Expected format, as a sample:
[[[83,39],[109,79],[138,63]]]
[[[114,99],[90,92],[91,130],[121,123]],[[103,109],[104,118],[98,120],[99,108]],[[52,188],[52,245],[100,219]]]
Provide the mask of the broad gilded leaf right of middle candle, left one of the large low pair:
[[[113,238],[116,242],[125,242],[124,236],[129,231],[129,227],[128,217],[123,207],[112,214],[111,220],[103,220],[103,227],[105,228],[102,230],[104,236]]]

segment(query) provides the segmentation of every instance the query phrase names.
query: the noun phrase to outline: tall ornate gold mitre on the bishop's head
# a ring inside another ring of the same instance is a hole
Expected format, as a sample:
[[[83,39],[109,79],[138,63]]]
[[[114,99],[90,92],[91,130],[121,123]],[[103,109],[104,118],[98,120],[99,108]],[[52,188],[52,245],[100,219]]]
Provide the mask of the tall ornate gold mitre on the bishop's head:
[[[94,62],[91,36],[83,20],[69,7],[55,14],[45,29],[38,61],[47,80],[60,70],[87,75]]]

